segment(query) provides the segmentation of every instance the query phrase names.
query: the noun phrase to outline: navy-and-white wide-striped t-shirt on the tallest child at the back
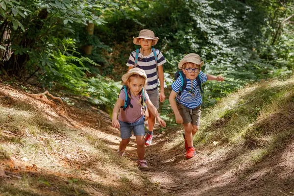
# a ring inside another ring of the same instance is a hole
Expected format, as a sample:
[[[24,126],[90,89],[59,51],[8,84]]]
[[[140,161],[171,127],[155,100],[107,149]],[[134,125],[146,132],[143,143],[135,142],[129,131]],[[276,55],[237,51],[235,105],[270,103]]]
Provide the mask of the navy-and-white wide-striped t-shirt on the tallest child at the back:
[[[165,60],[163,54],[158,49],[155,49],[155,51],[157,54],[157,66],[161,66],[164,63],[166,63],[167,61]],[[129,67],[134,67],[135,57],[136,57],[136,50],[132,51],[126,65]],[[140,59],[140,57],[142,58],[143,54],[141,54],[139,50],[137,67],[144,70],[145,73],[147,74],[146,91],[155,90],[158,87],[158,76],[157,76],[156,62],[155,62],[153,51],[151,50],[151,53],[148,56],[144,56],[143,59]]]

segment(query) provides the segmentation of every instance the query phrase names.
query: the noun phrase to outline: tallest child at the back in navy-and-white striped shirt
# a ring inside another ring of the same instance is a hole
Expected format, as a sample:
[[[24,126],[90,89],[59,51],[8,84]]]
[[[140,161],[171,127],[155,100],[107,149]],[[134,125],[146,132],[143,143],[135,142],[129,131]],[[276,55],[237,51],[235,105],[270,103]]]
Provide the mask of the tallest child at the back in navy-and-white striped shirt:
[[[133,43],[140,45],[141,48],[133,51],[126,63],[129,67],[128,71],[134,67],[138,67],[147,74],[146,91],[150,101],[158,109],[159,101],[165,100],[164,95],[164,74],[162,65],[166,63],[164,56],[158,49],[153,49],[152,46],[158,42],[158,37],[155,37],[154,32],[148,29],[141,30],[138,37],[134,37]],[[158,94],[158,78],[160,82],[160,93]],[[156,122],[155,117],[148,108],[148,131],[145,138],[145,145],[151,145],[153,128]]]

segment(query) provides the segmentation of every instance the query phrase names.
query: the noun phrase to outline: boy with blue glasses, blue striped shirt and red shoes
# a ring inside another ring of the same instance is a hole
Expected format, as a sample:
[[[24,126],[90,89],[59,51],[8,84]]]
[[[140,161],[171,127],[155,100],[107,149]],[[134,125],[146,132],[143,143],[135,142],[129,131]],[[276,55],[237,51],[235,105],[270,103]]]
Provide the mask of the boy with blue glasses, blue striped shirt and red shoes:
[[[201,71],[201,66],[204,61],[201,61],[199,55],[190,53],[178,63],[178,68],[182,69],[186,76],[186,88],[182,87],[182,77],[178,77],[172,83],[172,92],[170,94],[170,103],[173,113],[175,115],[176,123],[183,123],[185,129],[185,148],[187,151],[186,158],[192,158],[196,151],[193,146],[193,136],[199,129],[201,103],[200,84],[198,84],[196,77],[199,75],[200,83],[207,80],[223,81],[224,77],[221,75],[213,76],[205,74]]]

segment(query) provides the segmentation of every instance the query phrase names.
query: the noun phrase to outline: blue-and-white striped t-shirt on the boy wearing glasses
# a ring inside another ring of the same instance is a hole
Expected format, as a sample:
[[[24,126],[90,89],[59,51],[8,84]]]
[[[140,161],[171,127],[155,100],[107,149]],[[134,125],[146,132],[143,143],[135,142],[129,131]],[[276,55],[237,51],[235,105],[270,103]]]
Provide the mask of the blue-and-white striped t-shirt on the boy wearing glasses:
[[[201,84],[207,81],[207,76],[202,71],[199,72],[199,77]],[[194,109],[201,105],[202,103],[202,97],[200,95],[200,88],[197,84],[196,78],[194,80],[186,79],[187,80],[187,86],[182,93],[181,96],[179,94],[176,95],[176,101],[185,105],[189,109]],[[192,90],[191,81],[193,83],[193,93],[190,93],[189,90]],[[178,77],[173,83],[172,83],[172,90],[176,93],[180,92],[180,87],[182,86],[182,78]]]

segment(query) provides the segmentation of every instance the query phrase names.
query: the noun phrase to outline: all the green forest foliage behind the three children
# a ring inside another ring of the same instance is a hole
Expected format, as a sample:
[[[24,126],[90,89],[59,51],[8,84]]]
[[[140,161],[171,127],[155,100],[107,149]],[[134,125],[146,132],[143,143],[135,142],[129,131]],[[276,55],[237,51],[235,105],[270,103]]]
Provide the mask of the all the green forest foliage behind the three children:
[[[205,61],[203,72],[225,76],[225,82],[203,85],[205,107],[248,82],[294,68],[292,1],[0,0],[0,5],[1,72],[36,75],[44,86],[94,96],[98,104],[114,102],[115,91],[107,88],[117,84],[104,76],[120,80],[135,49],[132,37],[144,28],[160,38],[156,48],[168,62],[167,83],[191,52]],[[90,23],[96,25],[94,35],[85,30]],[[85,46],[93,46],[87,57]]]

